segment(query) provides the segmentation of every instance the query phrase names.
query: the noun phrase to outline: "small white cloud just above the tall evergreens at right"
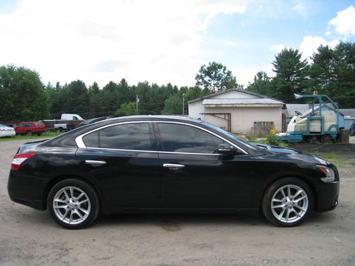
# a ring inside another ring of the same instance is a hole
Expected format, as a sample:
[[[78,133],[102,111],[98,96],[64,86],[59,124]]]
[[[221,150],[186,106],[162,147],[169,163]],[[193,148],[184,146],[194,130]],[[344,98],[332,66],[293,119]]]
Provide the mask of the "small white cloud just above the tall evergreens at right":
[[[317,52],[317,48],[320,45],[328,45],[330,48],[334,48],[339,44],[339,40],[332,40],[327,42],[324,38],[319,36],[305,36],[302,40],[300,45],[300,52],[302,52],[302,60],[307,59],[310,61],[310,57],[313,55],[314,52]]]

